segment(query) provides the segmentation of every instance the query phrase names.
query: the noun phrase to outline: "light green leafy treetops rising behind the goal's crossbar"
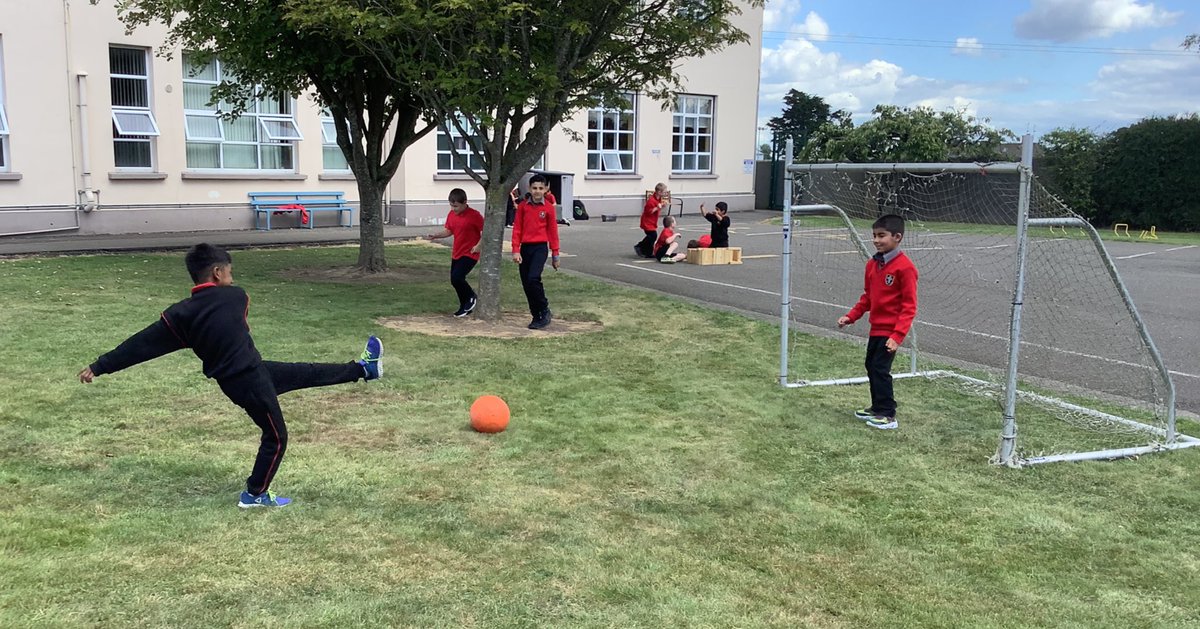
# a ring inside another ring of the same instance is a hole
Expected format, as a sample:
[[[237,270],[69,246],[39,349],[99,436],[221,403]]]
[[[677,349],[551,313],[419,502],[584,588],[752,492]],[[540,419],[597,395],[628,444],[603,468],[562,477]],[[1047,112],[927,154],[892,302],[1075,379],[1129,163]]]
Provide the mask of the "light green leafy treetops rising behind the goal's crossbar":
[[[854,127],[823,125],[800,151],[802,161],[988,162],[1013,133],[965,112],[878,104],[875,118]]]

